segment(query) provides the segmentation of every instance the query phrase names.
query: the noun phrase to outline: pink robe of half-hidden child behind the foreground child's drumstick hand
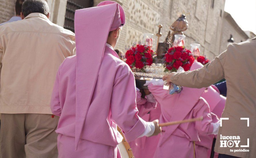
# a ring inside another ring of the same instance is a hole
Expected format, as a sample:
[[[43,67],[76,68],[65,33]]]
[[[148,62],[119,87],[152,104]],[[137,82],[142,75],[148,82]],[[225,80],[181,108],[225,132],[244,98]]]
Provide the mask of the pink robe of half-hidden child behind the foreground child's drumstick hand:
[[[159,119],[161,115],[161,108],[159,103],[157,103],[157,105],[155,103],[156,105],[156,107],[154,107],[155,109],[152,108],[152,105],[151,105],[152,103],[147,102],[146,99],[144,98],[141,98],[141,94],[138,93],[138,91],[137,91],[136,101],[137,101],[137,107],[139,109],[138,115],[142,117],[143,120],[147,122],[151,122],[156,119]],[[145,106],[145,103],[146,103],[146,106]],[[144,136],[130,142],[129,144],[133,151],[134,157],[153,158],[159,138],[160,138],[160,134],[158,134],[157,136],[151,136],[151,137]]]

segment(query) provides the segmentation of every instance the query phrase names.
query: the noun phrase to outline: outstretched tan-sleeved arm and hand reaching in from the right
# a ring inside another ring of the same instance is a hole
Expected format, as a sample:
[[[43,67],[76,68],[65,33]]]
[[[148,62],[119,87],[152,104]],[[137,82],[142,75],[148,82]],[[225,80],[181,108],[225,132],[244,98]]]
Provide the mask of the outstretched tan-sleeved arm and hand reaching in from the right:
[[[163,80],[167,79],[168,83],[173,82],[176,85],[190,88],[209,87],[224,78],[223,65],[225,64],[226,54],[227,51],[224,51],[200,69],[179,73],[172,72],[165,75]]]

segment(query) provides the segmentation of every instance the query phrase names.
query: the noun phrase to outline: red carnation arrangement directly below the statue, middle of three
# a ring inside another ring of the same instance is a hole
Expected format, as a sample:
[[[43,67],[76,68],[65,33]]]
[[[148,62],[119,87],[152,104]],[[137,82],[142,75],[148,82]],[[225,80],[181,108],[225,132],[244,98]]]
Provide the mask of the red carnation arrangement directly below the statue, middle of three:
[[[165,54],[165,72],[177,72],[181,66],[185,71],[191,68],[194,62],[193,54],[185,47],[171,47]]]

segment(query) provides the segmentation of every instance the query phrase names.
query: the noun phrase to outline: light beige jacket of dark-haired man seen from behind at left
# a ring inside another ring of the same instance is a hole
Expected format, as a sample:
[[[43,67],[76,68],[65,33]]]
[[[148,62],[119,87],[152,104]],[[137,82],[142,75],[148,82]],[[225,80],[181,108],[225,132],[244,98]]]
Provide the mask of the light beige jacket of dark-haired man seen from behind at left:
[[[0,26],[0,113],[51,114],[56,72],[75,54],[74,40],[41,13]]]

